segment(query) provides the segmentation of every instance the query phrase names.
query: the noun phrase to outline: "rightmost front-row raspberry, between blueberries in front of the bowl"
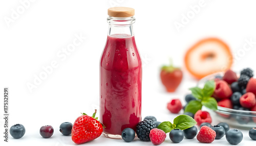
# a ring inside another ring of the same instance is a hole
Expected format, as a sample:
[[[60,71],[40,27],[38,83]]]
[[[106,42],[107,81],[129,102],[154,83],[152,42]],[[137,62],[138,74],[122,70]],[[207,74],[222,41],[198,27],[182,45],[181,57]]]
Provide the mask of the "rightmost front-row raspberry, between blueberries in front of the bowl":
[[[208,126],[201,127],[197,134],[197,140],[203,143],[211,143],[216,137],[216,132]]]

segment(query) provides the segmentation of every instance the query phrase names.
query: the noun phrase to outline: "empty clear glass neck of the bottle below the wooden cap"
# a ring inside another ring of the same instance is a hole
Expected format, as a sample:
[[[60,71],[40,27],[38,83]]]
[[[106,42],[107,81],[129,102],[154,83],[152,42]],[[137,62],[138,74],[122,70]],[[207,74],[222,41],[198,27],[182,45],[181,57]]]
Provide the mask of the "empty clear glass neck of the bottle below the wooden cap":
[[[133,33],[134,17],[111,17],[107,19],[109,23],[109,36],[131,37]]]

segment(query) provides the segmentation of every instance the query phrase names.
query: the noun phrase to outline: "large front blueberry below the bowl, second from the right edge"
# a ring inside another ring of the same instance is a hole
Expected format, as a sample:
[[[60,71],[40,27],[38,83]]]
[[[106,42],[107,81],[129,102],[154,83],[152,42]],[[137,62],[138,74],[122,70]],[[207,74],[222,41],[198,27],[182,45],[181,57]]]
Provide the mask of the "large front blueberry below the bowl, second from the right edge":
[[[238,144],[243,140],[243,133],[236,129],[229,130],[226,133],[226,139],[230,144]]]

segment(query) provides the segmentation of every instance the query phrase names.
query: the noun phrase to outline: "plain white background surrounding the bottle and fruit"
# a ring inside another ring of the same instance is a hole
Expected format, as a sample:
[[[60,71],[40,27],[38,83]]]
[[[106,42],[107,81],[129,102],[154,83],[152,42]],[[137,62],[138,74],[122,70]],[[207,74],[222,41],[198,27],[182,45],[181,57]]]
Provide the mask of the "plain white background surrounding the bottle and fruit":
[[[12,22],[12,9],[22,11],[21,1],[0,2],[0,87],[10,88],[9,126],[23,124],[26,134],[21,139],[9,138],[8,144],[21,145],[74,145],[71,136],[62,136],[58,127],[62,122],[71,123],[80,112],[92,114],[99,103],[99,59],[103,50],[108,23],[107,9],[112,6],[135,8],[134,32],[143,61],[142,116],[155,115],[159,121],[170,120],[166,104],[172,98],[184,102],[188,88],[196,85],[185,70],[185,51],[205,37],[218,37],[231,48],[233,55],[243,50],[245,39],[256,41],[255,1],[204,1],[195,16],[178,31],[174,22],[181,22],[182,15],[198,5],[197,1],[35,1],[24,9]],[[87,37],[61,60],[56,54],[71,44],[75,34]],[[236,59],[234,70],[255,67],[256,44]],[[174,63],[184,71],[184,79],[175,93],[166,93],[159,78],[160,67],[172,57]],[[144,59],[143,59],[144,58]],[[52,61],[58,67],[32,89],[34,76],[39,76]],[[1,92],[1,94],[3,91]],[[3,109],[3,100],[0,100]],[[2,110],[3,111],[3,110]],[[181,111],[182,113],[183,111]],[[2,112],[1,112],[2,113]],[[0,130],[4,131],[1,116]],[[217,124],[215,121],[213,124]],[[39,135],[43,125],[52,125],[54,135],[44,139]],[[254,142],[244,132],[240,145]],[[1,138],[3,142],[3,137]],[[184,139],[179,144],[203,144],[196,139]],[[4,143],[4,142],[3,142]],[[162,145],[172,143],[167,135]],[[214,144],[226,145],[225,138]],[[4,143],[7,145],[7,143]],[[151,142],[135,140],[126,143],[101,136],[87,145],[137,144],[153,145]],[[86,144],[84,144],[86,145]]]

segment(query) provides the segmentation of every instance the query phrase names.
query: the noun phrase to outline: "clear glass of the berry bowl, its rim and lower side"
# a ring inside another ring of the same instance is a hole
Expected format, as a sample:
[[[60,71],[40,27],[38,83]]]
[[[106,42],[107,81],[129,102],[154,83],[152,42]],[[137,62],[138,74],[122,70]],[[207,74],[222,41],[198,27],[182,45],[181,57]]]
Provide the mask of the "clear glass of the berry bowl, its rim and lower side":
[[[203,88],[208,80],[214,80],[216,76],[223,76],[224,72],[217,72],[202,78],[197,86]],[[239,75],[238,75],[239,77]],[[256,111],[236,110],[218,106],[218,110],[213,111],[207,109],[211,117],[214,117],[219,122],[225,122],[229,126],[236,128],[252,128],[256,127]]]

